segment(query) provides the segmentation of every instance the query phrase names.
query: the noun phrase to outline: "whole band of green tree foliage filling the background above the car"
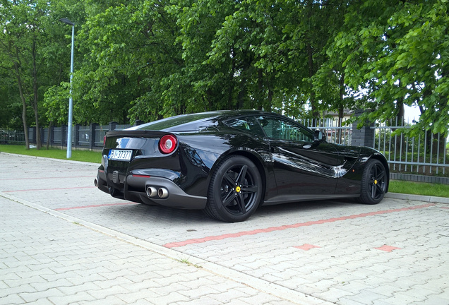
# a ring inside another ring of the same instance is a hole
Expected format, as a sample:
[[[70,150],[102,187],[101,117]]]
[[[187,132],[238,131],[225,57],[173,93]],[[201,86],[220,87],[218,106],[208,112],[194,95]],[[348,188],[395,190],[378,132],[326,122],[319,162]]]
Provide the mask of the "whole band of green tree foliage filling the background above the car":
[[[418,128],[448,130],[447,0],[2,0],[0,11],[0,106],[15,109],[2,126],[20,102],[23,126],[66,124],[67,17],[76,123],[246,108],[388,119],[416,105]]]

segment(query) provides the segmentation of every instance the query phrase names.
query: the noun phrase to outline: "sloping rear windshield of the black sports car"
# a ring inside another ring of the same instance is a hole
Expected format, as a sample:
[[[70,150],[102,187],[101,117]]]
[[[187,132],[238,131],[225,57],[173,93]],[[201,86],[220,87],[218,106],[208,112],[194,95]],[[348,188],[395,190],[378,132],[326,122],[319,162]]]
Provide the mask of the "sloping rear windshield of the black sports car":
[[[152,121],[147,124],[133,126],[127,130],[156,130],[156,131],[192,131],[198,130],[200,126],[215,124],[217,113],[204,112],[199,114],[183,114],[172,116],[167,119]]]

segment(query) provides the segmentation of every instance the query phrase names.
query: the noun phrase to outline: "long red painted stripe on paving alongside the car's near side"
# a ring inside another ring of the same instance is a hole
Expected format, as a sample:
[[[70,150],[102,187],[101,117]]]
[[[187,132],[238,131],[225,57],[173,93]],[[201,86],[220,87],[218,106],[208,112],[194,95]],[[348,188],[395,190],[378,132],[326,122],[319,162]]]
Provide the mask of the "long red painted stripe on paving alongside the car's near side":
[[[232,233],[232,234],[222,234],[218,236],[212,236],[212,237],[203,237],[200,239],[188,239],[186,241],[178,241],[178,242],[172,242],[169,244],[164,244],[164,247],[166,248],[176,248],[180,246],[187,246],[189,244],[200,244],[206,241],[217,241],[222,239],[228,239],[228,238],[236,238],[236,237],[243,237],[246,235],[255,235],[259,233],[268,233],[268,232],[275,232],[275,231],[282,231],[285,229],[294,229],[298,227],[308,227],[311,225],[323,225],[325,223],[329,222],[337,222],[337,221],[343,221],[343,220],[350,220],[360,217],[367,217],[367,216],[374,216],[374,215],[382,215],[382,214],[388,214],[388,213],[395,213],[395,212],[403,212],[407,210],[417,210],[421,208],[429,208],[431,206],[434,206],[434,203],[429,203],[426,205],[415,205],[410,208],[400,208],[400,209],[394,209],[394,210],[380,210],[377,212],[371,212],[371,213],[362,213],[357,215],[349,215],[349,216],[343,216],[343,217],[335,217],[335,218],[329,218],[326,220],[316,220],[316,221],[310,221],[310,222],[300,222],[294,225],[283,225],[280,227],[270,227],[266,229],[255,229],[252,231],[244,231],[244,232],[238,232],[238,233]]]

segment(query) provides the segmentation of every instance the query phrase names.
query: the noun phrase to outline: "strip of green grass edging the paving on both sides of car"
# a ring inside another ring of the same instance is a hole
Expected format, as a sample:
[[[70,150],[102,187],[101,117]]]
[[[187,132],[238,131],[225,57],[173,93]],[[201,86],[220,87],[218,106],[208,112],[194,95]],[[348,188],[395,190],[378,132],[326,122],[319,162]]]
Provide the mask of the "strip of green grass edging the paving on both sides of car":
[[[24,145],[0,145],[0,152],[10,152],[19,155],[32,155],[36,157],[49,157],[62,160],[67,159],[67,151],[60,150],[58,148],[50,148],[49,150],[46,150],[45,148],[42,148],[41,150],[31,148],[30,150],[25,150]],[[101,163],[101,153],[100,151],[72,150],[72,157],[70,160]],[[427,184],[412,181],[391,180],[389,191],[391,193],[449,197],[449,185],[447,184]]]

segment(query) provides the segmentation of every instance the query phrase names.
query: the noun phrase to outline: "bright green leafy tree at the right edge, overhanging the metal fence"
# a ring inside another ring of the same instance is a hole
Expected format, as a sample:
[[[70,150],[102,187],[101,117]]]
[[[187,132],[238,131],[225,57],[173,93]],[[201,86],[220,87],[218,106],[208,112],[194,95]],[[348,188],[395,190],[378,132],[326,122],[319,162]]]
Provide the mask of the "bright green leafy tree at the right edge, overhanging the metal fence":
[[[416,128],[446,133],[448,107],[448,1],[361,1],[348,7],[345,26],[329,49],[344,58],[347,84],[364,92],[364,118],[404,115],[418,105]],[[363,120],[362,120],[363,121]]]

